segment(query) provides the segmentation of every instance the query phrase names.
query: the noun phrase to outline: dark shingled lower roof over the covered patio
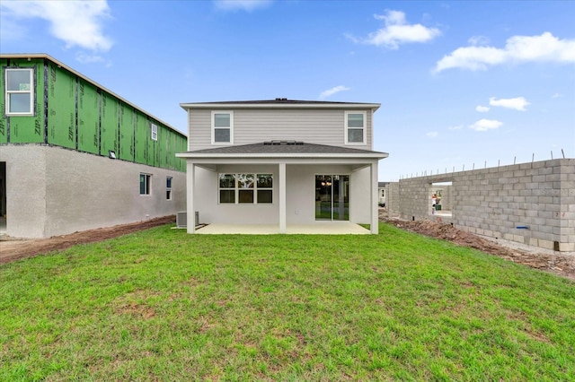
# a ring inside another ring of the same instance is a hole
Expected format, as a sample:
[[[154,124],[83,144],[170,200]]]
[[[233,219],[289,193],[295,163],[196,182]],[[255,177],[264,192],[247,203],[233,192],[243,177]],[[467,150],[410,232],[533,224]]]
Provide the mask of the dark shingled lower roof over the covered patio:
[[[329,146],[327,144],[304,143],[299,141],[267,141],[261,143],[241,144],[214,149],[203,149],[188,152],[190,154],[382,154],[385,152],[372,152],[369,150],[353,149],[350,147]]]

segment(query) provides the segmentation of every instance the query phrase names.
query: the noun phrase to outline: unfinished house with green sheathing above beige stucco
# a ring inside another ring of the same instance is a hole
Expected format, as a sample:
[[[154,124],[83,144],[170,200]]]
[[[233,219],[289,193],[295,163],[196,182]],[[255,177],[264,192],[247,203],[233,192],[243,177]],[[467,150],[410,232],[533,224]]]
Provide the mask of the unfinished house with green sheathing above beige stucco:
[[[185,161],[175,153],[187,137],[172,126],[44,54],[0,55],[0,93],[8,236],[47,238],[185,208]]]

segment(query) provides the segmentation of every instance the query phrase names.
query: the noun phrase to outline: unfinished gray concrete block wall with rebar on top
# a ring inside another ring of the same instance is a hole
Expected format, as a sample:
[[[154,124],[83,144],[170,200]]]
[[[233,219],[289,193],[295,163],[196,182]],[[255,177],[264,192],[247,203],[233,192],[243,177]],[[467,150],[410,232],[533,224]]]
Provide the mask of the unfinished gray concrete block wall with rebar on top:
[[[452,182],[456,228],[556,251],[575,251],[575,159],[402,179],[400,216],[434,219],[429,213],[431,184],[447,181]],[[394,205],[388,208],[393,210]]]

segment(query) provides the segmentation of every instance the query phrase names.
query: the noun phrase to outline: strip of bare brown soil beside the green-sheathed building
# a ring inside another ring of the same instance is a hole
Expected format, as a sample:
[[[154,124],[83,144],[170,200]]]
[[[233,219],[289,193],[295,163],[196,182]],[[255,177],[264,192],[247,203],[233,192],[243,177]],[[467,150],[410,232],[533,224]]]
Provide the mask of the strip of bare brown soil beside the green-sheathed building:
[[[93,243],[105,239],[117,238],[137,230],[147,230],[159,225],[170,224],[176,221],[175,215],[137,221],[135,223],[120,224],[113,227],[99,228],[97,230],[83,230],[69,235],[53,236],[49,239],[3,239],[0,241],[0,263],[8,263],[21,258],[39,254],[59,251],[76,244]]]

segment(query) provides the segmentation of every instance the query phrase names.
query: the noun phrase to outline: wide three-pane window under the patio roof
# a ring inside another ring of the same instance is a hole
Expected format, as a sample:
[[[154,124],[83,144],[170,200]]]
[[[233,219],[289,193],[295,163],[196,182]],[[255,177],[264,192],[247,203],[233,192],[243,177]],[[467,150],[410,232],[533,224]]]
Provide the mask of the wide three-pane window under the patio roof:
[[[220,204],[273,203],[272,174],[219,174]]]

